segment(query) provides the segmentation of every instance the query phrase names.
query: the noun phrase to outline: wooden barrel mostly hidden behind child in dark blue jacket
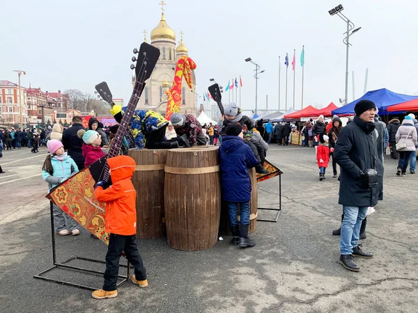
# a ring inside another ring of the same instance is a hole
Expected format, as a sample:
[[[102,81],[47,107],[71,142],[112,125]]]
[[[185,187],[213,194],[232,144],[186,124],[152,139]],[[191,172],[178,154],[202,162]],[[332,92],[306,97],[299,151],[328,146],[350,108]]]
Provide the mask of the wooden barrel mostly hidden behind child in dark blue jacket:
[[[258,186],[257,173],[254,168],[248,170],[249,178],[251,179],[251,201],[249,202],[249,234],[256,231],[257,228],[257,206],[258,206]],[[238,212],[239,214],[239,212]],[[239,217],[238,217],[239,219]],[[219,223],[219,234],[230,235],[229,229],[229,214],[226,202],[222,201],[221,221]]]

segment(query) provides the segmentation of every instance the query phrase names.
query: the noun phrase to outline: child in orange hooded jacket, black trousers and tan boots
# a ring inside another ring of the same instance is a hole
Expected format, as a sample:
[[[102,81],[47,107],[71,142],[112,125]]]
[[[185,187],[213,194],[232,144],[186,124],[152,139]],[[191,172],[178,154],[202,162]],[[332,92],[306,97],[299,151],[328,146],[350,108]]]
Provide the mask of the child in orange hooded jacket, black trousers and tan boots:
[[[127,260],[134,266],[135,275],[132,282],[139,287],[148,287],[146,269],[137,249],[137,210],[135,202],[137,192],[131,182],[135,170],[135,161],[131,157],[121,155],[107,159],[112,185],[103,189],[105,182],[98,182],[94,195],[100,202],[106,202],[106,231],[109,233],[109,248],[106,255],[106,271],[104,271],[103,288],[93,291],[93,298],[115,298],[118,296],[116,282],[118,280],[119,259],[125,251]]]

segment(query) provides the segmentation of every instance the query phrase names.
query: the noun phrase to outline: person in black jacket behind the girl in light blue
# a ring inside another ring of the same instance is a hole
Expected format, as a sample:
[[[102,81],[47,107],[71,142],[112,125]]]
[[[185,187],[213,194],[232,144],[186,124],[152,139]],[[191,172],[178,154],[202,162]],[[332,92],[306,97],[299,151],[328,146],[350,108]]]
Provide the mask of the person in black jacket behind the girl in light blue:
[[[64,149],[67,150],[68,155],[75,161],[79,170],[84,168],[84,157],[82,150],[83,141],[82,138],[77,136],[77,131],[84,129],[82,121],[82,118],[79,116],[72,118],[72,125],[68,129],[65,129],[63,132],[63,138],[61,140],[63,142]]]

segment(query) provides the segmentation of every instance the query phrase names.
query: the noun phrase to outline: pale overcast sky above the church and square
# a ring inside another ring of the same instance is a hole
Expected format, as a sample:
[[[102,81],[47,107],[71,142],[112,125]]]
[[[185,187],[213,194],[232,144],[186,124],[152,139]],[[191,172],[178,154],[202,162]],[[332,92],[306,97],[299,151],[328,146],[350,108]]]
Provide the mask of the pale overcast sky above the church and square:
[[[132,48],[143,42],[160,21],[159,0],[19,0],[1,6],[0,79],[17,83],[12,70],[26,70],[22,85],[56,91],[75,88],[94,91],[107,81],[115,98],[130,97]],[[265,70],[258,79],[258,110],[285,106],[284,56],[289,63],[296,49],[295,109],[301,106],[300,52],[305,46],[304,106],[339,105],[344,97],[346,24],[328,10],[335,0],[166,0],[167,23],[184,42],[197,64],[197,93],[215,78],[226,87],[241,75],[243,109],[255,109],[254,65]],[[180,4],[181,3],[181,4]],[[350,0],[343,14],[362,29],[350,37],[349,102],[363,95],[369,67],[368,90],[388,88],[396,93],[418,93],[418,2],[412,0]],[[148,38],[149,40],[149,38]],[[228,102],[228,94],[223,95]],[[293,106],[293,71],[288,69],[288,107]]]

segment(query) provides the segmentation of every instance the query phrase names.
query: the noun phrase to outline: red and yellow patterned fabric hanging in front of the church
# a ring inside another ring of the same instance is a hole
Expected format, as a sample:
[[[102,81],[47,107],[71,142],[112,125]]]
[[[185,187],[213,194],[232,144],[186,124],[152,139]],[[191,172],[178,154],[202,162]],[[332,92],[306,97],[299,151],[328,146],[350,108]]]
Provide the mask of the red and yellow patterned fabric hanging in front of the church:
[[[196,69],[196,63],[189,58],[189,56],[180,56],[177,61],[176,69],[174,70],[174,79],[171,88],[166,91],[167,94],[167,109],[165,118],[170,120],[173,113],[180,111],[181,105],[181,86],[183,77],[190,89],[192,89],[192,70]]]

